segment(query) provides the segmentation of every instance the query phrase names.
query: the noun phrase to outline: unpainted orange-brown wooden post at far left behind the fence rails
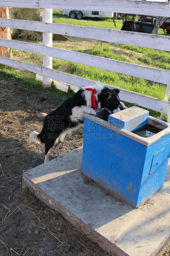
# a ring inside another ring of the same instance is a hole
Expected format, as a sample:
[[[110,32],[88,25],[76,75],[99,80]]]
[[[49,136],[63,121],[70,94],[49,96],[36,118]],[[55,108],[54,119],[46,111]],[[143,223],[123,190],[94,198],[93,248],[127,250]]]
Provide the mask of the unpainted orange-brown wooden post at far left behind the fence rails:
[[[0,7],[0,18],[10,19],[9,7]],[[11,39],[10,28],[0,27],[0,38]],[[1,56],[12,58],[12,52],[10,48],[0,46]]]

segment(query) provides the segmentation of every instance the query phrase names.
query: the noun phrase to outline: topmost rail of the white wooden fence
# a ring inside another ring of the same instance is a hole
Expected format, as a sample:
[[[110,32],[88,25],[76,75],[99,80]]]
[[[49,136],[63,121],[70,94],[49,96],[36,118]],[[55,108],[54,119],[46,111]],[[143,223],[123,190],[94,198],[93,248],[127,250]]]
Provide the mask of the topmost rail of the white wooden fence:
[[[169,17],[169,2],[133,0],[0,0],[0,6],[19,8],[73,9],[85,11],[137,13]]]

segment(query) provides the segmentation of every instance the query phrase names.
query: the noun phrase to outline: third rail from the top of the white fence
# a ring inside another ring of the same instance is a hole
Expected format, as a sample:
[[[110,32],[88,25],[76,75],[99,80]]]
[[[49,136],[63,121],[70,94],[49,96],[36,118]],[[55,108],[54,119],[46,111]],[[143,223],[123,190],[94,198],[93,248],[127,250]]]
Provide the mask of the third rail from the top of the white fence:
[[[129,62],[107,59],[80,52],[72,52],[41,44],[30,44],[0,38],[0,46],[4,45],[22,51],[34,52],[61,60],[68,60],[95,68],[106,69],[129,76],[136,76],[162,84],[168,84],[170,81],[170,72],[158,68],[151,68]]]

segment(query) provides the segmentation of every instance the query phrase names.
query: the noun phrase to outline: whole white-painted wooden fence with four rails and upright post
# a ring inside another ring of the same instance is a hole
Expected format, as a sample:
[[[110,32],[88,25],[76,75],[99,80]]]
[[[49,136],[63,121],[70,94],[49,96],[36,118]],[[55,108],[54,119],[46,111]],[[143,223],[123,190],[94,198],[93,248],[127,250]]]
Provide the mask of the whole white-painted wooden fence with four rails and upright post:
[[[162,118],[164,114],[168,114],[168,122],[170,122],[170,102],[168,102],[168,96],[170,92],[169,71],[161,70],[158,68],[150,68],[147,66],[132,64],[119,60],[92,56],[79,52],[62,50],[52,47],[51,43],[49,43],[52,41],[51,34],[53,33],[170,51],[169,36],[52,23],[52,12],[50,10],[52,8],[90,11],[95,10],[104,12],[137,13],[144,15],[170,17],[170,2],[149,2],[133,0],[0,0],[0,6],[43,8],[42,22],[0,18],[1,27],[43,32],[43,45],[0,38],[0,46],[42,54],[43,67],[0,56],[1,64],[42,75],[44,83],[48,83],[50,81],[48,78],[78,87],[85,85],[90,87],[96,83],[95,81],[89,79],[53,70],[51,60],[52,57],[54,57],[166,84],[168,86],[166,88],[166,95],[164,100],[119,88],[120,99],[145,108],[159,111],[162,113]],[[110,85],[107,84],[107,86]],[[111,87],[113,88],[113,86]]]

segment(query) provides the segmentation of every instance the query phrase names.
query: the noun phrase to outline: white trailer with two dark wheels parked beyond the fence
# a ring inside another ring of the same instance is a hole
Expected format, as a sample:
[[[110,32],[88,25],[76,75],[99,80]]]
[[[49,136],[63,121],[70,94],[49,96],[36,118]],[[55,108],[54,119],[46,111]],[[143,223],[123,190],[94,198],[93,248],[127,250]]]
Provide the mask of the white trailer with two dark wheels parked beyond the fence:
[[[81,20],[84,17],[109,17],[113,18],[113,12],[96,12],[96,11],[81,11],[81,10],[63,10],[63,15],[66,14],[71,19],[78,19]]]

